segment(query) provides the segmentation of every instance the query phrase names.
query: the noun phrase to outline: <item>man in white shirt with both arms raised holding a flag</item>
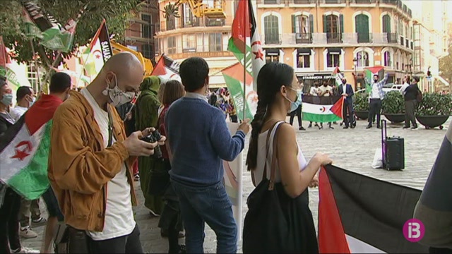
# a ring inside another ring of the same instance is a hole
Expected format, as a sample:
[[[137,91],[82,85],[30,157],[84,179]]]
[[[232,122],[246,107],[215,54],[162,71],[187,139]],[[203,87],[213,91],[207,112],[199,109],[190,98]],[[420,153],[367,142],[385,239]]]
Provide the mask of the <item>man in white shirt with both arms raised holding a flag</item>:
[[[383,85],[386,84],[388,80],[388,73],[384,75],[384,78],[379,81],[379,75],[374,75],[374,82],[371,83],[370,80],[365,78],[366,82],[371,84],[371,90],[369,94],[369,123],[366,128],[372,128],[372,121],[376,115],[376,128],[381,128],[380,126],[380,111],[381,111],[381,100],[384,99]]]

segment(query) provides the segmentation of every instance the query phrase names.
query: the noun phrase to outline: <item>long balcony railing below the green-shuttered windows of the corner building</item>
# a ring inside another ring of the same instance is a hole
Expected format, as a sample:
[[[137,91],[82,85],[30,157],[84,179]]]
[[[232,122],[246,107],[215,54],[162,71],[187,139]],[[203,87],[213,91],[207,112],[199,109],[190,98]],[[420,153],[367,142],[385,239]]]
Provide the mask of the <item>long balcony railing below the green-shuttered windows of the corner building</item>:
[[[262,40],[265,44],[272,42],[271,44],[284,44],[284,45],[294,45],[294,44],[349,44],[358,45],[364,43],[371,44],[398,44],[398,35],[396,33],[371,33],[371,34],[359,34],[359,33],[335,33],[328,34],[324,32],[315,33],[284,33],[280,35],[279,38],[271,36],[270,40],[266,40],[265,36]],[[328,38],[329,37],[329,38]],[[267,38],[268,39],[268,38]]]

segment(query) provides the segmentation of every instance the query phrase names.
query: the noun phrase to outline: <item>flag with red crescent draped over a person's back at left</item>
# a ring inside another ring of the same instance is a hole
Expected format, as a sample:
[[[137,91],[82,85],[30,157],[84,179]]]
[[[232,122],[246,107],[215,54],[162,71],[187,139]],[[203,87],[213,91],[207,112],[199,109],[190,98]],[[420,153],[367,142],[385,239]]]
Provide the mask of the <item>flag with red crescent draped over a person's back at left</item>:
[[[28,200],[49,188],[50,131],[59,104],[58,99],[38,99],[0,138],[0,179]]]

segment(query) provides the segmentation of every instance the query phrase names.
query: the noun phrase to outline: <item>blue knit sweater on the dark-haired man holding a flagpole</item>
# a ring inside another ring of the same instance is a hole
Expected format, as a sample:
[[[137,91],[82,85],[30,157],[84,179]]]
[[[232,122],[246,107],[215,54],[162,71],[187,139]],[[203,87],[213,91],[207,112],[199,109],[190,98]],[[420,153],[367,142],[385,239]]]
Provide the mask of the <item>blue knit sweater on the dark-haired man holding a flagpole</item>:
[[[211,186],[222,181],[222,159],[234,160],[242,152],[245,134],[231,137],[225,115],[202,95],[187,93],[173,102],[165,116],[167,142],[172,152],[172,181],[187,186]]]

